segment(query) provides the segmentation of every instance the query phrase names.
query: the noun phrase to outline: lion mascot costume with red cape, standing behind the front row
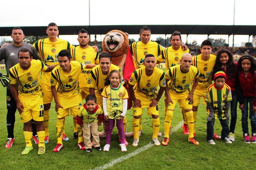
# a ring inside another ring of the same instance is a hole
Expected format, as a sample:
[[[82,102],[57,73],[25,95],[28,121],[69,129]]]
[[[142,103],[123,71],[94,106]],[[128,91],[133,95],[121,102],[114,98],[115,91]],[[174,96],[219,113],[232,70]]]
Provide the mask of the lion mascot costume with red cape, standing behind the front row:
[[[109,31],[102,41],[103,51],[111,55],[112,64],[118,66],[123,74],[126,90],[128,90],[128,80],[135,70],[132,54],[130,53],[128,33],[120,30]],[[130,95],[129,95],[130,96]],[[128,109],[132,107],[132,102],[128,99]],[[124,137],[133,136],[132,132],[127,133],[127,119],[124,117]],[[106,137],[107,121],[102,122],[103,131],[99,133],[101,138]]]

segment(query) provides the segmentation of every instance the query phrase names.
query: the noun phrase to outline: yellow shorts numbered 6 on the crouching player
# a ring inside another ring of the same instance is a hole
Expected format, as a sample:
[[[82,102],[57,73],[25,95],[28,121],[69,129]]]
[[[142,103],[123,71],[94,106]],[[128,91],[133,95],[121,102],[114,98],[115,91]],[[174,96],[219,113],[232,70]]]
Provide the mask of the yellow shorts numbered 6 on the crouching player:
[[[143,108],[146,107],[148,111],[148,115],[158,115],[159,116],[159,106],[156,105],[155,107],[149,107],[151,101],[143,100],[141,101],[142,107],[132,107],[133,116],[140,116],[143,113]]]

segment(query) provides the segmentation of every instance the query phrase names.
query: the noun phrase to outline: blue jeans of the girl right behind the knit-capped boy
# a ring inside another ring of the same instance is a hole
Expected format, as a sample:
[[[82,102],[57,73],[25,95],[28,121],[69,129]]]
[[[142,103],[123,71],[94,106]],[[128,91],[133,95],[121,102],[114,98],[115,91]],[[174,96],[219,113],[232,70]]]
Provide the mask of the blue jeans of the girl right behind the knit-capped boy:
[[[230,108],[230,128],[229,132],[234,133],[236,128],[236,118],[237,118],[237,98],[236,98],[236,92],[232,93],[232,102],[231,102],[231,108]]]

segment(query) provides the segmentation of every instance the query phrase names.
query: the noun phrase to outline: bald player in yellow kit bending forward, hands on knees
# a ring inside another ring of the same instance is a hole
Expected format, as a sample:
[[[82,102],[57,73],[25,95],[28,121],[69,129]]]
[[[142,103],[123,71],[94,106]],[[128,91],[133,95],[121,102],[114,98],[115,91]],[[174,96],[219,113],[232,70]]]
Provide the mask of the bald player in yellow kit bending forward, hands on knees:
[[[191,66],[192,56],[189,53],[182,55],[180,64],[172,66],[166,72],[166,82],[170,81],[169,86],[165,88],[166,94],[166,117],[164,119],[164,140],[162,145],[168,145],[169,131],[172,123],[174,107],[178,102],[180,108],[184,109],[188,121],[188,141],[194,145],[199,145],[194,138],[194,118],[192,111],[193,93],[199,81],[199,71],[195,66]],[[194,81],[194,82],[193,82]],[[193,82],[191,91],[189,86]],[[168,90],[169,89],[169,90]]]

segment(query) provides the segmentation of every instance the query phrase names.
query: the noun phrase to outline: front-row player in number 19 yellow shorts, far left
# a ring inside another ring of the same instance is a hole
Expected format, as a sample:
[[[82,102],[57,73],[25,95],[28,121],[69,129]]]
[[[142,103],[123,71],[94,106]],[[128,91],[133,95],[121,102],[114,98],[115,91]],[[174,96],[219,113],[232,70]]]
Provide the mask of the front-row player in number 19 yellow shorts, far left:
[[[32,59],[32,52],[28,49],[21,49],[18,52],[19,63],[10,68],[9,78],[10,90],[17,103],[20,113],[20,121],[24,123],[24,137],[26,147],[21,154],[28,154],[32,149],[32,119],[36,124],[39,138],[38,154],[45,153],[44,145],[44,102],[41,88],[40,72],[51,72],[56,65],[45,66],[40,60]],[[16,90],[18,82],[18,92]]]

